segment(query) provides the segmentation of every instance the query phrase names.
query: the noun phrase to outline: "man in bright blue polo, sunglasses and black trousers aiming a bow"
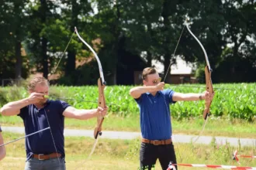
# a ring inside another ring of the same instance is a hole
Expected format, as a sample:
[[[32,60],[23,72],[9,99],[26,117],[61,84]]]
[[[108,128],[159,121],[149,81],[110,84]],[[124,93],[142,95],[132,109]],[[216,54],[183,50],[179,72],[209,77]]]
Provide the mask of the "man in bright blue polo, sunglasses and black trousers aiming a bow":
[[[133,87],[130,95],[140,107],[140,169],[154,167],[157,158],[162,169],[167,169],[170,162],[176,164],[174,145],[171,140],[171,111],[169,104],[180,100],[209,100],[213,94],[177,93],[164,90],[157,70],[147,67],[142,73],[143,87]],[[177,167],[176,167],[177,168]]]

